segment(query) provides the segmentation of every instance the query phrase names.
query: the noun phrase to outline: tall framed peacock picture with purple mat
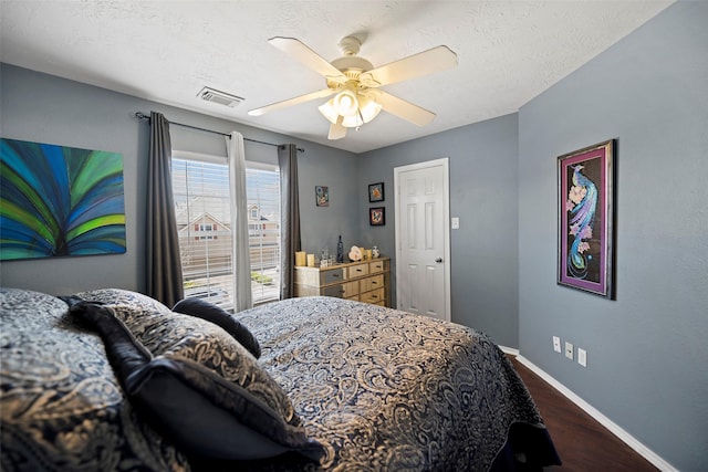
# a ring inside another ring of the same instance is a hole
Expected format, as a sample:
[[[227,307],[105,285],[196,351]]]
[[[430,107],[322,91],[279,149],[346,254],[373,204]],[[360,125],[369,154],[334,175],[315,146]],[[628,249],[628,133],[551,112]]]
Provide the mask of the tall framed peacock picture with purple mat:
[[[615,300],[615,140],[558,157],[558,284]]]

